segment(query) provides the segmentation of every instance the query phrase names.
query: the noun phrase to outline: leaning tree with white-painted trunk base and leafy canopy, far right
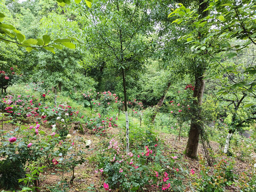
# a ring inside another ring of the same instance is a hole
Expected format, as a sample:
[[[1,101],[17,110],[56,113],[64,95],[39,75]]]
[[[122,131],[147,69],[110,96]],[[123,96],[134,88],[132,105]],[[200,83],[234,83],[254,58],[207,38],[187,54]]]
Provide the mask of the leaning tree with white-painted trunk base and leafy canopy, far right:
[[[206,3],[209,3],[209,5]],[[204,58],[210,57],[217,62],[218,65],[226,70],[225,72],[228,75],[229,80],[234,83],[233,88],[238,88],[238,90],[240,88],[242,91],[242,97],[238,99],[236,95],[237,99],[234,101],[236,103],[235,109],[237,109],[242,103],[245,95],[247,95],[247,91],[250,90],[250,92],[254,94],[254,83],[247,82],[247,85],[250,85],[250,87],[245,87],[244,85],[246,82],[239,82],[242,79],[239,79],[238,82],[234,81],[234,78],[230,76],[229,72],[233,73],[235,71],[228,71],[229,69],[223,67],[221,62],[218,60],[221,59],[221,57],[217,58],[217,54],[225,51],[226,57],[232,58],[238,51],[244,49],[250,44],[255,44],[255,35],[253,35],[253,31],[255,30],[255,18],[253,18],[251,14],[251,12],[255,13],[254,4],[255,3],[252,1],[227,1],[225,4],[221,1],[205,1],[205,5],[204,3],[201,4],[201,9],[199,9],[200,11],[198,14],[195,14],[196,11],[187,10],[182,5],[169,14],[169,16],[173,14],[179,15],[179,17],[181,16],[173,22],[181,23],[185,21],[186,23],[192,23],[191,26],[193,26],[195,30],[182,38],[186,39],[187,42],[192,45],[191,50],[194,50],[196,55],[203,54],[205,55]],[[204,15],[206,11],[210,12],[207,17]],[[204,16],[202,17],[202,15]],[[235,44],[234,41],[236,41]],[[224,55],[221,56],[225,57]],[[252,68],[250,68],[250,70]],[[200,76],[203,77],[202,75],[203,74]],[[233,116],[234,121],[235,118],[236,112]],[[232,129],[234,128],[229,130],[226,141],[227,143],[230,135],[232,134]],[[192,142],[195,142],[194,139]],[[190,144],[188,142],[187,148],[189,146]],[[225,152],[227,153],[227,150],[225,150]]]

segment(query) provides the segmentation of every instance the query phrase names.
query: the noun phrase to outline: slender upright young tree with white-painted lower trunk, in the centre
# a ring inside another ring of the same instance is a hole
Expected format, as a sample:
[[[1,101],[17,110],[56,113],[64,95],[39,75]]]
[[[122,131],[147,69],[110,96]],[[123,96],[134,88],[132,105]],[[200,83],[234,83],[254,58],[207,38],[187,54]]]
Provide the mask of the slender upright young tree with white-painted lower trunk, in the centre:
[[[84,28],[89,49],[103,54],[103,71],[111,68],[112,74],[122,79],[124,111],[126,117],[126,151],[129,153],[129,119],[127,114],[127,79],[138,77],[146,64],[146,55],[152,39],[149,35],[147,8],[143,1],[101,1],[94,5],[87,15],[90,23]],[[85,21],[89,21],[88,19]],[[95,50],[96,49],[96,50]],[[117,72],[118,71],[118,72]],[[113,73],[114,72],[114,73]],[[127,78],[127,75],[130,78]],[[108,77],[109,78],[109,77]],[[128,80],[129,81],[129,80]],[[131,81],[130,81],[131,83]]]

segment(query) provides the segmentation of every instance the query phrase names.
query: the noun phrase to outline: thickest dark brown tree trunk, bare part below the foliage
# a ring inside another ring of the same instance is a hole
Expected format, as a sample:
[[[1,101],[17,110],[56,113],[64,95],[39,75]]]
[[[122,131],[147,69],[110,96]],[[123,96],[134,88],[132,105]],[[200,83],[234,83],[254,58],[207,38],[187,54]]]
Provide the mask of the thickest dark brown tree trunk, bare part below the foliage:
[[[197,158],[197,148],[199,143],[200,131],[203,129],[203,122],[201,121],[201,105],[203,101],[203,94],[205,88],[205,80],[203,79],[204,70],[199,71],[195,75],[195,90],[193,97],[193,108],[191,117],[191,125],[188,134],[188,142],[185,154],[190,158]]]

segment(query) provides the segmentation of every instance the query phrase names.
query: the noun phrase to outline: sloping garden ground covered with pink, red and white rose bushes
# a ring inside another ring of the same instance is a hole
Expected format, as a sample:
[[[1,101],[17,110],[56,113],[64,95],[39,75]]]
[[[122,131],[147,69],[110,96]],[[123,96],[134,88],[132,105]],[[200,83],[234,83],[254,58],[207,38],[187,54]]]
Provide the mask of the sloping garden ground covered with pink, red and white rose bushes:
[[[31,88],[27,87],[27,89]],[[85,117],[85,111],[81,114],[82,112],[78,112],[68,103],[60,104],[58,107],[54,106],[54,99],[52,103],[47,103],[47,107],[41,107],[38,104],[44,103],[46,96],[41,95],[41,92],[35,89],[29,91],[35,94],[21,96],[19,93],[18,95],[10,93],[2,99],[1,185],[5,190],[14,188],[21,191],[76,190],[76,182],[83,178],[83,172],[87,172],[86,169],[83,170],[85,164],[90,164],[87,165],[90,171],[86,173],[86,179],[84,179],[87,184],[79,186],[81,191],[115,191],[115,189],[123,191],[145,189],[226,191],[254,188],[253,171],[249,171],[251,167],[248,164],[253,163],[253,158],[256,157],[253,150],[255,148],[253,138],[246,139],[237,134],[237,139],[243,145],[235,144],[237,140],[234,139],[234,144],[231,144],[231,151],[237,151],[232,152],[234,157],[225,156],[223,159],[223,154],[219,151],[221,146],[216,147],[214,149],[216,161],[213,167],[205,163],[203,156],[200,156],[198,164],[194,161],[187,164],[184,163],[186,157],[182,152],[184,135],[180,134],[178,129],[173,128],[165,130],[166,133],[161,133],[162,127],[153,130],[152,125],[145,124],[147,119],[144,118],[141,124],[139,116],[134,112],[140,109],[133,106],[130,108],[130,113],[133,114],[133,122],[130,125],[132,129],[130,133],[131,151],[126,154],[125,126],[122,123],[117,125],[118,121],[123,121],[124,114],[121,113],[118,117],[117,100],[106,99],[107,92],[99,93],[103,95],[103,99],[100,96],[95,98],[92,110],[89,106],[90,113],[87,113]],[[50,94],[48,94],[49,97]],[[109,94],[112,93],[109,92]],[[41,96],[42,100],[39,100],[37,96]],[[96,103],[101,103],[106,109],[102,109]],[[170,103],[170,115],[173,115],[173,107],[176,104],[172,100],[166,105]],[[141,106],[142,103],[139,105]],[[180,107],[179,103],[177,107]],[[181,108],[185,107],[181,106]],[[102,110],[107,111],[102,113],[105,114],[103,118],[98,113]],[[177,112],[179,113],[181,111]],[[117,116],[111,118],[111,114]],[[171,118],[174,117],[171,116]],[[75,130],[74,122],[79,120],[83,130]],[[177,121],[180,119],[177,118]],[[218,125],[221,122],[220,119]],[[168,144],[170,133],[173,141]],[[243,148],[245,148],[244,152]],[[245,166],[242,169],[234,169],[234,166],[241,161]],[[10,166],[13,171],[10,171]],[[79,169],[76,168],[77,166]],[[244,179],[238,177],[241,171]],[[46,177],[51,178],[51,174],[54,177],[58,175],[58,179],[54,180],[55,183],[44,183],[47,180]],[[89,183],[88,179],[91,177],[95,180]],[[99,178],[100,181],[98,181]],[[5,185],[6,182],[9,185]],[[249,182],[246,184],[247,187],[243,186],[244,182]],[[191,185],[186,183],[191,183]]]

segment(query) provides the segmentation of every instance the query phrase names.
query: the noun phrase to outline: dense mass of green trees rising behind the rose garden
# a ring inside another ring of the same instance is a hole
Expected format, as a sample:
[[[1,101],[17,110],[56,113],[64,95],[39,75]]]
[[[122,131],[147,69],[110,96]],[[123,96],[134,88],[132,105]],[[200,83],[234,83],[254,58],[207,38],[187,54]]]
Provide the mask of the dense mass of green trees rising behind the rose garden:
[[[58,2],[1,2],[0,38],[20,45],[2,42],[3,69],[16,63],[23,81],[44,82],[45,89],[58,87],[66,94],[74,91],[76,99],[91,86],[113,91],[124,99],[125,111],[129,100],[156,106],[162,98],[177,98],[178,85],[191,84],[186,153],[193,158],[199,134],[210,121],[203,116],[203,102],[215,99],[227,106],[219,117],[234,113],[227,140],[254,118],[253,1]],[[7,59],[11,49],[15,56]],[[155,112],[170,113],[162,104]]]

